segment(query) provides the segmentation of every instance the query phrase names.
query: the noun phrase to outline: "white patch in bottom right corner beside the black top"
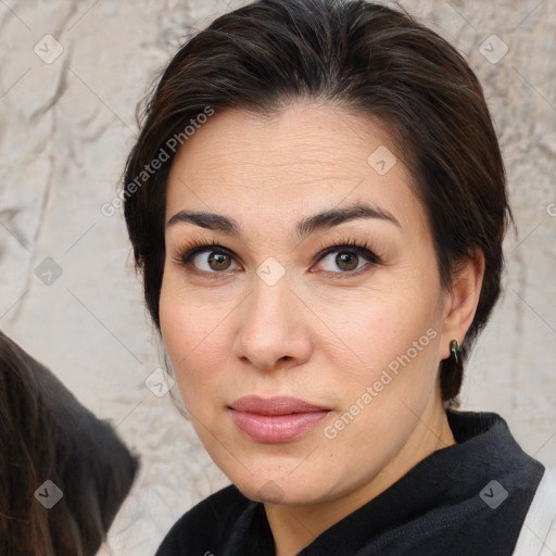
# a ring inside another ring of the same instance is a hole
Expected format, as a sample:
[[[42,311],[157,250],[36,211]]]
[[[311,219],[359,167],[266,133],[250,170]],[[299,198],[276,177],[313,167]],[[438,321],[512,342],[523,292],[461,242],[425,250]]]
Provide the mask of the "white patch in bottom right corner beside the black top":
[[[515,556],[544,556],[556,546],[556,467],[546,467],[527,513]]]

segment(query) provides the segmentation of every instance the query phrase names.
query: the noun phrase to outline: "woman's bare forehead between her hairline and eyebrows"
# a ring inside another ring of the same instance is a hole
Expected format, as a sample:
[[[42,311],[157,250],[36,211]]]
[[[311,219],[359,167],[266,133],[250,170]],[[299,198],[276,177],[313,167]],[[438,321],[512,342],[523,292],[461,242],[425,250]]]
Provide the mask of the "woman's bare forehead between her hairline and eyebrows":
[[[415,232],[425,213],[394,151],[384,126],[340,108],[300,102],[270,118],[217,111],[174,159],[166,222],[187,208],[289,227],[368,202]]]

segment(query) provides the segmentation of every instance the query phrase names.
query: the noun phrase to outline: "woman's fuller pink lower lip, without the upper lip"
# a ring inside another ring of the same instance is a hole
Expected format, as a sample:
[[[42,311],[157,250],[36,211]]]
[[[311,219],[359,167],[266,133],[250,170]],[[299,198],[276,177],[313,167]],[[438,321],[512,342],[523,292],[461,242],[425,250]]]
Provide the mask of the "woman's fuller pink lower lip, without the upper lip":
[[[230,409],[238,428],[257,442],[279,443],[294,440],[309,431],[330,412],[306,412],[289,415],[260,415]]]

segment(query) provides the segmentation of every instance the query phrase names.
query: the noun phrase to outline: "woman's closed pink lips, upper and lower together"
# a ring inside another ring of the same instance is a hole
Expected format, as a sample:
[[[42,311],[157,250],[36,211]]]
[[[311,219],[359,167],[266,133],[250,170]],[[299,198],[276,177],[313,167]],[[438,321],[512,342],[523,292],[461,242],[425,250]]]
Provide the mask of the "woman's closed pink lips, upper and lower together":
[[[243,433],[252,440],[267,443],[288,442],[301,437],[331,410],[296,397],[263,400],[255,395],[236,400],[229,409]]]

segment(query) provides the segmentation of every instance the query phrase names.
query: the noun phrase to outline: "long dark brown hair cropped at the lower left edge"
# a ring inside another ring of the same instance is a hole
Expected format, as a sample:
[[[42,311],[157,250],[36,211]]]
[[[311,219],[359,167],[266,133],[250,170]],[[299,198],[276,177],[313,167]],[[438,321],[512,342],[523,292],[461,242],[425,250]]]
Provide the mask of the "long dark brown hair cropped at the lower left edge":
[[[0,332],[2,556],[94,556],[138,468],[109,422]],[[47,480],[63,493],[50,508]]]

